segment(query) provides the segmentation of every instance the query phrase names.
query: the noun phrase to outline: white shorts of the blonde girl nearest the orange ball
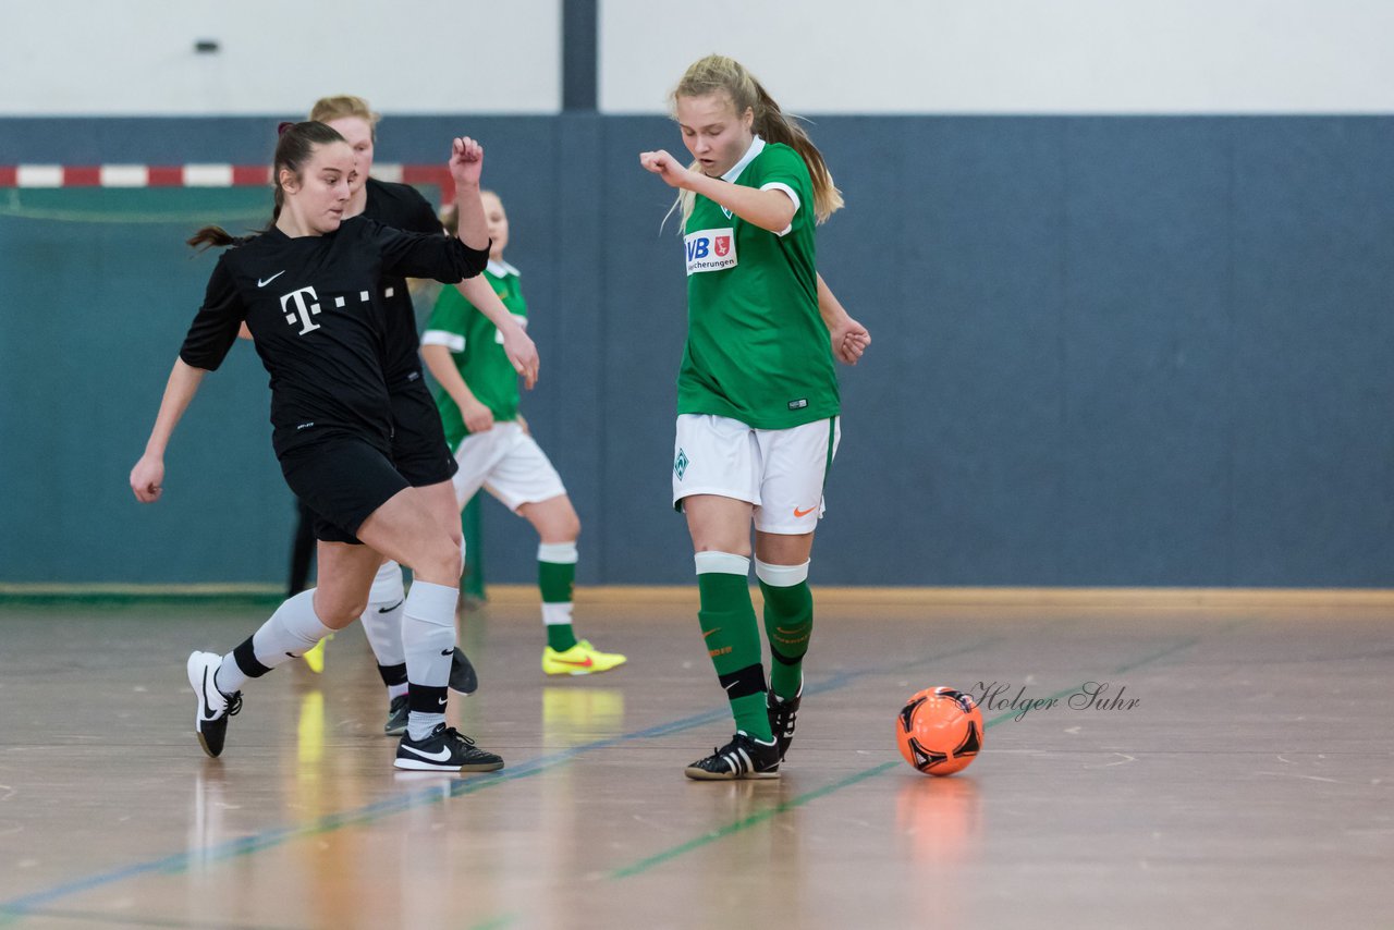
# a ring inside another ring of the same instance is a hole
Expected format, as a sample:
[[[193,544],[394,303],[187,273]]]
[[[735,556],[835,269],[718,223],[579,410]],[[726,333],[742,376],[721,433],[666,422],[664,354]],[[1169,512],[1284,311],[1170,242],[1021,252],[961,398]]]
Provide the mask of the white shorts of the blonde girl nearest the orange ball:
[[[753,429],[729,417],[679,414],[673,506],[682,510],[683,498],[714,494],[756,505],[761,533],[813,533],[841,439],[838,417],[790,429]]]

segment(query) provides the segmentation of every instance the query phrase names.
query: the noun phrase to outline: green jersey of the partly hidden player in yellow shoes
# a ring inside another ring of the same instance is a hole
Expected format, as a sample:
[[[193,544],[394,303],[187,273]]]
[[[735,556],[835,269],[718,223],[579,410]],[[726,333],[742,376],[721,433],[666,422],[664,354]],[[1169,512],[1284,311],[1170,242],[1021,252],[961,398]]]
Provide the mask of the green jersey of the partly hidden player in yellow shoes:
[[[521,326],[527,326],[527,303],[519,287],[519,270],[507,262],[489,261],[485,280],[493,287],[503,305]],[[496,421],[516,420],[519,416],[519,376],[503,351],[499,328],[467,301],[457,289],[443,287],[431,310],[422,346],[445,346],[454,367],[474,396],[489,409]],[[436,389],[436,409],[445,427],[445,439],[454,449],[470,435],[460,407],[443,388]]]

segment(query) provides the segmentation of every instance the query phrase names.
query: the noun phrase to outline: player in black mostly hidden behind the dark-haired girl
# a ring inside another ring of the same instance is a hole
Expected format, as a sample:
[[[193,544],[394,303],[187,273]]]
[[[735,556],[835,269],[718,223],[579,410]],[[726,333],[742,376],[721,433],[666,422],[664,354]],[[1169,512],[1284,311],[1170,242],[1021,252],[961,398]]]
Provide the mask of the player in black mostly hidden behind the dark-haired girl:
[[[367,100],[347,95],[321,98],[311,107],[309,119],[336,130],[354,152],[354,177],[348,183],[344,216],[367,216],[401,230],[442,234],[436,212],[415,188],[368,177],[372,170],[379,117]],[[382,371],[392,397],[392,463],[411,487],[421,491],[427,505],[441,517],[445,530],[457,545],[461,545],[463,556],[459,509],[454,485],[450,482],[459,466],[450,455],[445,432],[441,429],[441,414],[421,374],[421,344],[417,339],[417,319],[407,293],[407,282],[392,276],[385,277],[382,286],[388,311],[383,319]],[[523,375],[524,383],[531,388],[538,369],[537,347],[533,340],[482,276],[467,277],[459,287],[499,328],[505,354],[513,363],[513,368]],[[388,559],[372,581],[368,607],[362,613],[362,629],[378,660],[378,673],[388,689],[388,722],[383,732],[389,735],[400,733],[407,726],[407,672],[401,641],[403,598],[401,567]],[[477,687],[474,669],[459,650],[452,662],[450,687],[467,694]]]

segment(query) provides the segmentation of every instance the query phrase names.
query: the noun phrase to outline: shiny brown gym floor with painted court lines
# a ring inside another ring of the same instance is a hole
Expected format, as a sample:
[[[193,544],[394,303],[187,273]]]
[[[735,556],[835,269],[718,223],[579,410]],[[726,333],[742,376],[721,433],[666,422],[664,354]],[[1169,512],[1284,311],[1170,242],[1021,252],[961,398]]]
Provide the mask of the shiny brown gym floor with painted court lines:
[[[392,768],[355,627],[209,760],[185,657],[263,609],[0,607],[0,927],[1394,926],[1390,593],[822,590],[763,782],[682,775],[730,733],[691,591],[583,590],[630,662],[576,679],[492,594],[467,777]],[[895,749],[933,685],[991,697],[951,778]]]

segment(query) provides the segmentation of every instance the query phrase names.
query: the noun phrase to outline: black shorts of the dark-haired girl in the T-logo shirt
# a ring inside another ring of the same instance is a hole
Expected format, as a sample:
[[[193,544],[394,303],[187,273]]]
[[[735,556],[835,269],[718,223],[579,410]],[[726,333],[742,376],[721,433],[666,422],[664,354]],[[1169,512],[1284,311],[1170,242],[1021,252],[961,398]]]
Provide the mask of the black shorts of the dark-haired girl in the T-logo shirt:
[[[411,487],[375,445],[330,434],[280,456],[286,484],[315,514],[315,538],[361,544],[358,527],[393,495]]]

